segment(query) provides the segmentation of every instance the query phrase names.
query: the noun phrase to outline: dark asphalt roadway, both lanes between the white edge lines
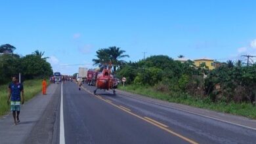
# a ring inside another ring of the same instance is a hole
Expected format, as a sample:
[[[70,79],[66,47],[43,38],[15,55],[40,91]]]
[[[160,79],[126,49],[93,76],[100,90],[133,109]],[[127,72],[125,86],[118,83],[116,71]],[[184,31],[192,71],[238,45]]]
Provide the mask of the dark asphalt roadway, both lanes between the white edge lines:
[[[255,143],[256,131],[83,84],[63,84],[66,143]]]

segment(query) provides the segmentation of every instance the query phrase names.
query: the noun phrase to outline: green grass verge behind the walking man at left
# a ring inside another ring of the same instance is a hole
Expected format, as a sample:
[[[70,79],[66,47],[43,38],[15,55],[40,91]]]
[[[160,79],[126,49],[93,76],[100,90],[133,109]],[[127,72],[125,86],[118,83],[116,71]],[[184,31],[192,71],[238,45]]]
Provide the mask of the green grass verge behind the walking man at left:
[[[24,94],[25,101],[33,98],[36,94],[41,92],[41,79],[24,81]],[[5,115],[10,111],[10,105],[7,105],[7,95],[8,95],[8,84],[0,86],[0,116]]]

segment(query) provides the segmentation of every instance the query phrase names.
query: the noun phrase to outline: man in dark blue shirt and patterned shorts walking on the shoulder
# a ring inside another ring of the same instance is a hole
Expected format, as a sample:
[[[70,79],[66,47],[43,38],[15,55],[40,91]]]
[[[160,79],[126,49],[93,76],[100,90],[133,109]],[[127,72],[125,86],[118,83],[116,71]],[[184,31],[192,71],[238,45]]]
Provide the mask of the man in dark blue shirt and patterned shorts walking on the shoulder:
[[[22,94],[22,98],[20,98],[20,93]],[[23,85],[18,82],[17,77],[12,77],[12,82],[9,85],[8,105],[10,104],[10,98],[14,125],[17,125],[20,122],[20,101],[23,104],[25,100]]]

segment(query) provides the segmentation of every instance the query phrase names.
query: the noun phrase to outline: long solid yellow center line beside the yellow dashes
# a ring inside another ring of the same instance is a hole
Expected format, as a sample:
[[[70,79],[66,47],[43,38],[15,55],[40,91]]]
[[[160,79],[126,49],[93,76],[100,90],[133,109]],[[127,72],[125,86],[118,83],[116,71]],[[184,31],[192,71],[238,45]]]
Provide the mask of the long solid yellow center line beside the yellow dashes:
[[[84,90],[85,90],[85,89],[84,89]],[[89,92],[89,90],[85,90],[85,91]],[[89,92],[89,93],[91,94],[91,92]],[[95,95],[93,94],[93,96],[95,96]],[[154,125],[154,126],[157,126],[157,127],[160,128],[161,130],[165,130],[165,132],[169,132],[170,134],[173,134],[173,135],[175,135],[175,136],[177,136],[177,137],[180,137],[180,138],[183,139],[184,141],[188,141],[188,143],[198,144],[196,141],[193,141],[192,139],[189,139],[189,138],[187,138],[187,137],[184,137],[184,136],[181,135],[181,134],[177,134],[176,132],[173,132],[172,130],[169,130],[168,128],[165,128],[164,126],[161,126],[161,124],[158,124],[157,122],[155,123],[155,122],[151,121],[151,120],[152,120],[151,118],[150,118],[150,120],[149,120],[148,118],[140,117],[139,115],[136,115],[135,113],[132,113],[131,111],[128,111],[127,109],[124,109],[123,107],[120,107],[120,106],[118,106],[118,105],[112,103],[112,101],[110,101],[110,100],[108,100],[108,99],[103,99],[103,98],[100,98],[99,96],[95,96],[95,97],[101,99],[102,101],[106,101],[106,103],[110,103],[110,105],[113,105],[114,107],[117,107],[118,109],[121,109],[121,110],[125,111],[126,113],[129,113],[130,115],[133,115],[133,116],[135,116],[135,117],[137,117],[137,118],[140,118],[141,120],[144,120],[144,121],[146,121],[146,122],[148,122],[148,123],[150,123],[150,124],[152,124],[152,125]],[[156,120],[154,120],[154,121],[156,121]],[[159,122],[159,123],[160,123],[160,122]]]

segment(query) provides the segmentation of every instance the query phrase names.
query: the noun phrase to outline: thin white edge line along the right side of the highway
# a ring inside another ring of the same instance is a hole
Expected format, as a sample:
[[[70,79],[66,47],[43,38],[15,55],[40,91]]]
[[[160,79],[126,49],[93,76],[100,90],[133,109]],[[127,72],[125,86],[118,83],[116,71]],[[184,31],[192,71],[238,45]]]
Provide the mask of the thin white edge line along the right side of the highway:
[[[120,94],[120,92],[118,92],[118,93]],[[121,95],[127,96],[126,94],[121,94]],[[128,97],[134,98],[133,96],[128,96]],[[140,99],[140,98],[134,98],[134,99],[139,99],[139,100],[141,100],[141,101],[146,101],[146,102],[148,102],[148,103],[153,103],[153,104],[155,104],[155,105],[161,105],[161,106],[163,106],[163,107],[169,107],[169,108],[171,108],[171,109],[175,109],[175,110],[178,110],[178,111],[184,111],[184,112],[186,112],[186,113],[190,113],[190,114],[193,114],[193,115],[199,115],[199,116],[201,116],[201,117],[206,117],[206,118],[211,118],[211,119],[213,119],[213,120],[218,120],[218,121],[221,121],[221,122],[226,122],[226,123],[228,123],[228,124],[233,124],[233,125],[235,125],[235,126],[241,126],[241,127],[244,127],[244,128],[248,128],[248,129],[250,129],[250,130],[256,130],[256,128],[251,128],[251,127],[249,127],[249,126],[244,126],[244,125],[241,125],[241,124],[236,124],[236,123],[234,123],[234,122],[228,122],[228,121],[226,121],[226,120],[221,120],[221,119],[215,118],[215,117],[209,117],[209,116],[202,115],[202,114],[199,114],[199,113],[194,113],[194,112],[192,112],[192,111],[186,111],[186,110],[184,110],[184,109],[179,109],[179,108],[177,108],[177,107],[171,107],[171,106],[169,106],[169,105],[162,105],[162,104],[156,103],[156,102],[154,102],[154,101],[145,100],[145,99]]]

